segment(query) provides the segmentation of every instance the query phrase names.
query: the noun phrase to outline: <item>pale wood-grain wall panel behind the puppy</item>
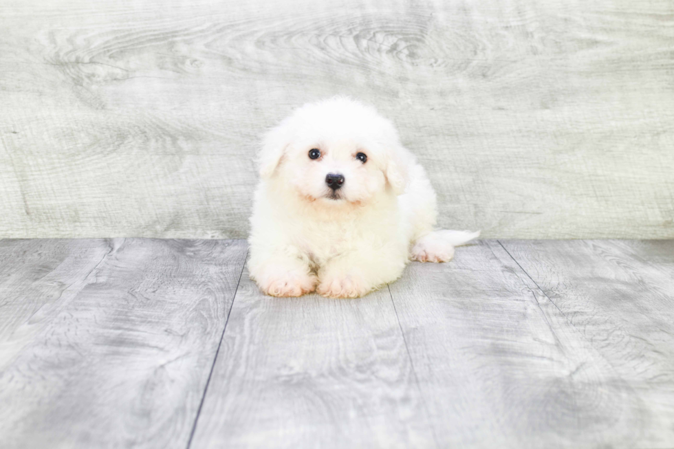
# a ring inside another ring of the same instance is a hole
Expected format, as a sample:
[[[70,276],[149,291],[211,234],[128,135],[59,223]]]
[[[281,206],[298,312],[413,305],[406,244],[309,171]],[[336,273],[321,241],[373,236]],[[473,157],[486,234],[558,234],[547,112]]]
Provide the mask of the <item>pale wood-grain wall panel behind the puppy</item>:
[[[674,237],[671,0],[3,0],[0,237],[246,237],[261,133],[334,94],[445,228]]]

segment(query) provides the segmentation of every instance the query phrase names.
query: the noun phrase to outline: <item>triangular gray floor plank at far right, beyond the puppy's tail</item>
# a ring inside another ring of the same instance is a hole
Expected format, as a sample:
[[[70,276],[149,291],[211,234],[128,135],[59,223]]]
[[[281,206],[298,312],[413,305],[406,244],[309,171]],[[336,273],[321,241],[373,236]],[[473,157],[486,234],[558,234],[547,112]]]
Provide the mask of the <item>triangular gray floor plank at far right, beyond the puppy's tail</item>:
[[[674,242],[501,243],[638,401],[638,446],[674,446]]]

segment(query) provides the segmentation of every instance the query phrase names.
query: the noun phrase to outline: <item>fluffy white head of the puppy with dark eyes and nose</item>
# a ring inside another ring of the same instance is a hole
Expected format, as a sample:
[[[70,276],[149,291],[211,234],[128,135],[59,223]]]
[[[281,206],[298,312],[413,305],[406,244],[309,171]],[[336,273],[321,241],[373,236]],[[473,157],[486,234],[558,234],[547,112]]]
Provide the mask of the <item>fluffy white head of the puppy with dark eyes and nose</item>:
[[[409,162],[391,122],[341,97],[296,109],[265,136],[259,156],[263,179],[334,206],[400,195]]]

